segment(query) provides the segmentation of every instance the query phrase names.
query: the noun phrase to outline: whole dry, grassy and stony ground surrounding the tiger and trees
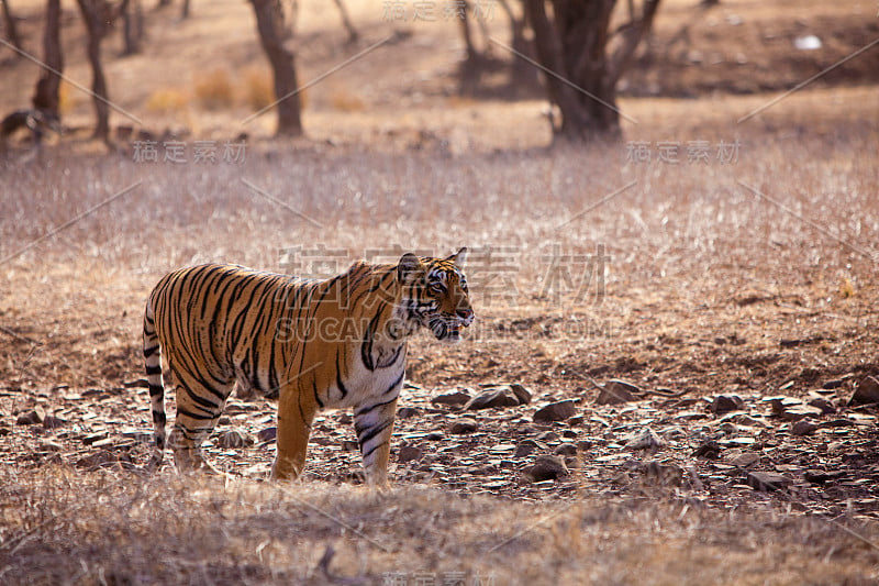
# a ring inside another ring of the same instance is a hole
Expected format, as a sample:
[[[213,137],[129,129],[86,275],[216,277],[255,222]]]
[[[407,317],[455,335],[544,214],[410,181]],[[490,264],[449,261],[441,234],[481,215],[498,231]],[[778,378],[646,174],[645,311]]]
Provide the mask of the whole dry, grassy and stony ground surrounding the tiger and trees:
[[[578,147],[549,144],[537,98],[459,97],[454,26],[352,2],[365,38],[344,47],[331,7],[302,4],[304,79],[405,31],[308,90],[305,139],[270,139],[264,117],[243,159],[194,159],[248,113],[237,93],[200,104],[208,41],[236,81],[259,58],[246,4],[196,3],[191,22],[151,15],[156,53],[108,51],[111,96],[136,128],[176,129],[186,162],[107,153],[76,130],[82,97],[70,135],[0,161],[0,581],[879,579],[879,409],[852,400],[879,394],[879,47],[786,93],[879,37],[872,3],[670,2],[626,78],[624,140]],[[822,49],[790,48],[809,33]],[[26,103],[33,68],[0,68],[2,110]],[[118,81],[155,68],[186,82]],[[88,78],[81,57],[69,70]],[[182,101],[145,106],[160,90]],[[142,307],[166,272],[320,276],[461,245],[477,322],[456,346],[412,342],[392,490],[363,488],[332,411],[303,480],[265,482],[260,398],[231,399],[205,446],[227,478],[129,472],[152,433]],[[519,405],[464,403],[491,392]]]

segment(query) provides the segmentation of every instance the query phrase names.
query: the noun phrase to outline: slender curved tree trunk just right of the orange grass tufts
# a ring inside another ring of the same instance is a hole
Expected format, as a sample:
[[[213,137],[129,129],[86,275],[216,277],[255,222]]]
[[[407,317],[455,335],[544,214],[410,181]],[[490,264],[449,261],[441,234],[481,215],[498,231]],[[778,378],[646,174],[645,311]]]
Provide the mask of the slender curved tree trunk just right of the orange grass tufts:
[[[293,54],[283,46],[283,11],[280,0],[251,0],[259,42],[275,77],[279,135],[302,134],[301,103]]]

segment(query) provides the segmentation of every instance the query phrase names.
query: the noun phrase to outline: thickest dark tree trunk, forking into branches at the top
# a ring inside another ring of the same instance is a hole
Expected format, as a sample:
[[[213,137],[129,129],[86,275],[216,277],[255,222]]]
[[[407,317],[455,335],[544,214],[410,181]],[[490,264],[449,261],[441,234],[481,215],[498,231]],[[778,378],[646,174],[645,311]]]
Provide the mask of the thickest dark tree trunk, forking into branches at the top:
[[[537,62],[552,71],[544,76],[547,95],[561,111],[561,124],[553,129],[556,136],[617,139],[616,82],[649,29],[659,0],[645,0],[641,18],[615,33],[610,25],[616,0],[554,0],[552,20],[544,0],[524,1]],[[613,51],[611,41],[616,42]]]

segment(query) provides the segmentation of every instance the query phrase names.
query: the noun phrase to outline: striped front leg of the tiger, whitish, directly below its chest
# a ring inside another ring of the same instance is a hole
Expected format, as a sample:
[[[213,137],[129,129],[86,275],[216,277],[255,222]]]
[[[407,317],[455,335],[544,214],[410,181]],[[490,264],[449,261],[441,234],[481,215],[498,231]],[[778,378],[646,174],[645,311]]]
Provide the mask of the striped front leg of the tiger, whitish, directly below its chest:
[[[370,486],[388,486],[388,457],[396,413],[396,394],[390,399],[378,399],[354,411],[354,430],[360,444],[366,482]]]

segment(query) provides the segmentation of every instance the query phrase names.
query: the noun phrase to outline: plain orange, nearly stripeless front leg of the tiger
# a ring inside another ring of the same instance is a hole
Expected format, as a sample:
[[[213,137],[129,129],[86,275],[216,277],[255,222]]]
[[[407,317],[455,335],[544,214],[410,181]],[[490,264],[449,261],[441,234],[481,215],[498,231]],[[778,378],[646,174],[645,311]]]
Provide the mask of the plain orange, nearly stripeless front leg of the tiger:
[[[277,453],[271,465],[272,480],[294,480],[305,466],[311,422],[318,412],[310,395],[298,387],[281,389],[278,401]]]

